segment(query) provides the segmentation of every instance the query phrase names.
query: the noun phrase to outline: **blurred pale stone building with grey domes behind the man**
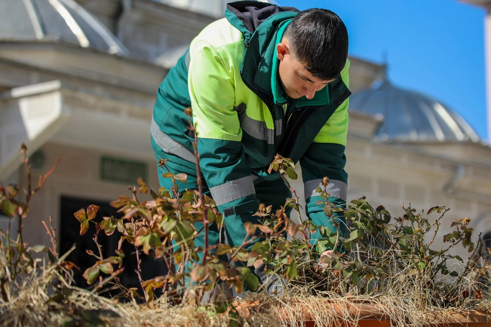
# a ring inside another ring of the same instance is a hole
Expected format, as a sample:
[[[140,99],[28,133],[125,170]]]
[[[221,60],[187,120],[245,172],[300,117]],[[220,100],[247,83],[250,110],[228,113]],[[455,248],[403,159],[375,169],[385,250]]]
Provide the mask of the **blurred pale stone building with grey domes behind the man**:
[[[73,212],[95,203],[110,215],[107,203],[137,177],[158,186],[149,132],[157,87],[225,2],[0,1],[0,180],[25,182],[21,142],[33,176],[61,157],[31,202],[27,242],[49,243],[41,221],[51,216],[62,250],[80,245]],[[491,232],[490,148],[439,101],[390,84],[383,65],[350,60],[349,198],[366,195],[393,215],[402,202],[447,205],[442,233],[463,217]]]

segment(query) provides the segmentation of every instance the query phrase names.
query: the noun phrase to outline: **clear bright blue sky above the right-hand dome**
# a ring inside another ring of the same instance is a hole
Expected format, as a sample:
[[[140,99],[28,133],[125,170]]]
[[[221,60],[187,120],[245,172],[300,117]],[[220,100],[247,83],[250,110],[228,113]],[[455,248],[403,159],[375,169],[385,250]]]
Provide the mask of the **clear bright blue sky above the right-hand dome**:
[[[350,54],[378,63],[394,84],[433,96],[487,138],[484,10],[457,0],[276,0],[338,14]]]

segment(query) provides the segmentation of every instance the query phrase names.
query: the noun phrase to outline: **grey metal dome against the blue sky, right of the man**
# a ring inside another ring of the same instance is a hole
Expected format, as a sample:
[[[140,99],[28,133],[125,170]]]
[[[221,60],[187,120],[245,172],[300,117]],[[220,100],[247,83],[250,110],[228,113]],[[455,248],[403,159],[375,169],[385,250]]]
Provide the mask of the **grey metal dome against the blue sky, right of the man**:
[[[418,92],[403,90],[387,80],[376,89],[355,93],[350,109],[382,115],[376,134],[382,141],[467,141],[479,136],[458,113]]]

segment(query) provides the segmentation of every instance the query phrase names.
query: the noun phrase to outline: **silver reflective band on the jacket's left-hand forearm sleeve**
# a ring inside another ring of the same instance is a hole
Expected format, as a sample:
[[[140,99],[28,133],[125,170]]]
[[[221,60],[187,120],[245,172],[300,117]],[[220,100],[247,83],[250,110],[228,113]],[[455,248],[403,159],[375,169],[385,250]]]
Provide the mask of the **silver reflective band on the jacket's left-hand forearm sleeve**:
[[[246,176],[239,179],[231,180],[221,185],[211,187],[210,193],[217,205],[224,204],[243,198],[247,195],[255,194],[252,176]]]

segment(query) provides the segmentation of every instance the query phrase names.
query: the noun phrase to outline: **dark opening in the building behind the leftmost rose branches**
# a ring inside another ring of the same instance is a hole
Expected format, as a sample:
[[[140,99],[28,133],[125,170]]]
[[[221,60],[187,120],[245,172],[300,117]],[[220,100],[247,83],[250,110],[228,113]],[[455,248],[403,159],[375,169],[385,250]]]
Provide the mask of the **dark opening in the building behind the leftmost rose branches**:
[[[61,197],[59,253],[62,254],[67,252],[68,250],[70,250],[72,245],[75,244],[75,250],[68,255],[67,260],[75,263],[77,266],[80,267],[81,271],[74,269],[74,279],[76,285],[82,288],[89,287],[85,279],[82,277],[83,272],[97,261],[94,256],[87,254],[86,250],[91,250],[96,254],[99,251],[97,250],[97,246],[93,241],[95,233],[94,224],[89,224],[88,231],[81,236],[80,223],[75,218],[74,213],[81,208],[86,210],[87,206],[89,206],[90,204],[94,204],[100,207],[99,211],[97,212],[97,216],[94,219],[95,222],[101,222],[103,217],[114,216],[114,218],[119,219],[123,216],[121,213],[117,213],[117,209],[111,207],[108,202],[70,198],[65,196]],[[117,255],[114,251],[118,248],[118,242],[121,236],[122,234],[118,232],[117,229],[110,236],[107,236],[104,231],[99,232],[99,244],[102,247],[102,254],[104,258]],[[123,286],[127,288],[138,288],[140,294],[142,295],[143,290],[139,285],[138,276],[135,272],[137,268],[135,247],[127,241],[123,241],[122,250],[125,253],[125,257],[123,259],[124,271],[119,275],[120,281]],[[154,257],[152,257],[151,254],[145,255],[144,253],[140,253],[140,259],[142,271],[141,277],[143,280],[167,274],[164,260],[156,260]],[[117,265],[114,265],[114,270],[116,269]],[[104,278],[107,275],[102,274],[102,276]],[[156,295],[159,295],[159,290],[156,291]],[[119,290],[112,290],[103,295],[113,296],[119,293]]]

